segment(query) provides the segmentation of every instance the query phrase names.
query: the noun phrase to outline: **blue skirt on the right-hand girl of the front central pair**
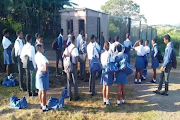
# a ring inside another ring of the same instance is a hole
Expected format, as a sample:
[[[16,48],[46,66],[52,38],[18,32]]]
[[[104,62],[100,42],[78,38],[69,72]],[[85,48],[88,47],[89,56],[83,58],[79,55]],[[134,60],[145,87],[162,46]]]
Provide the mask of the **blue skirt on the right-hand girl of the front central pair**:
[[[123,71],[116,72],[116,84],[127,84],[128,83],[128,76]]]

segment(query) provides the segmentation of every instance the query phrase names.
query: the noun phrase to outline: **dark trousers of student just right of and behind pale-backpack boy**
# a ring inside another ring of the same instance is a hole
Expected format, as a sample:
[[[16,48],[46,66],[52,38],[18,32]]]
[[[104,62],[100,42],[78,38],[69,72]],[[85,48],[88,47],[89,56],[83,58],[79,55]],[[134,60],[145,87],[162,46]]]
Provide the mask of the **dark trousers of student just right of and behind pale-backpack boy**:
[[[85,79],[86,76],[86,56],[86,53],[79,55],[80,75],[83,77],[83,79]]]

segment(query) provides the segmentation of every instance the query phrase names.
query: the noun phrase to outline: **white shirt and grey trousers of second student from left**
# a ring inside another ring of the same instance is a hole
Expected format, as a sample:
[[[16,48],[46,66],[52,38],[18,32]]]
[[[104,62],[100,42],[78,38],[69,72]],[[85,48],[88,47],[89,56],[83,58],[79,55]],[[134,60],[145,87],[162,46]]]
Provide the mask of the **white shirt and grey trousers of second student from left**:
[[[15,56],[17,57],[17,65],[18,65],[18,71],[19,71],[19,87],[20,89],[23,89],[23,64],[20,58],[22,48],[24,44],[23,41],[18,37],[14,43],[14,48],[15,48]]]

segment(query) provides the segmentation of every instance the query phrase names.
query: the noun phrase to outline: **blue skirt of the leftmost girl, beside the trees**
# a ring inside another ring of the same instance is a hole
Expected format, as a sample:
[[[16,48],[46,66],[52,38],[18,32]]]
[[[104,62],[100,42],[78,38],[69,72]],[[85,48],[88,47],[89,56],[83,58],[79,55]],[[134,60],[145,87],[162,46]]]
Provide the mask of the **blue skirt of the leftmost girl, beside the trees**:
[[[12,64],[12,58],[11,58],[11,48],[4,49],[4,64],[10,65]]]

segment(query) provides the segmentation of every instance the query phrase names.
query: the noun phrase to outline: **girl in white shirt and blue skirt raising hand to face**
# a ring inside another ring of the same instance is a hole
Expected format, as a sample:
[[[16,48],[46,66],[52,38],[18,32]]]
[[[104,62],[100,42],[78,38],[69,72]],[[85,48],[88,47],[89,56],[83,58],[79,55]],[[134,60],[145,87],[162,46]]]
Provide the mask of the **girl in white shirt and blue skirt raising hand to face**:
[[[136,44],[139,44],[139,46],[135,47]],[[135,42],[133,49],[137,52],[137,57],[136,57],[136,62],[135,62],[135,68],[136,68],[136,72],[135,72],[135,80],[134,82],[137,84],[137,76],[139,73],[139,84],[141,84],[141,80],[142,80],[142,69],[144,69],[144,55],[145,53],[145,49],[143,47],[143,40],[138,40]]]

